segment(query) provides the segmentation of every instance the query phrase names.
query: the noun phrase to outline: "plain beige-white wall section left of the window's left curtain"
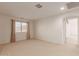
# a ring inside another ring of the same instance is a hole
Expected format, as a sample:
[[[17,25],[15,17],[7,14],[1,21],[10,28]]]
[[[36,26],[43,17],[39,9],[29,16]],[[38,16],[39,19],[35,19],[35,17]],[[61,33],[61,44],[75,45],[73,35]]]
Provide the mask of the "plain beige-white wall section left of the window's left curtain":
[[[0,15],[0,44],[10,42],[11,21],[9,17]]]

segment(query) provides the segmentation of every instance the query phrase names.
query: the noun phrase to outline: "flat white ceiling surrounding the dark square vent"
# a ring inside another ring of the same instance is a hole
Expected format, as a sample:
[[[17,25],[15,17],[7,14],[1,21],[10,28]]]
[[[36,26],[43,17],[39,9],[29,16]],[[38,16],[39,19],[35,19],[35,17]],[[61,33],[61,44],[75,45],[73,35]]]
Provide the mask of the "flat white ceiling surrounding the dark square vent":
[[[36,4],[43,5],[42,8],[36,8]],[[26,19],[39,19],[47,16],[53,16],[63,11],[67,2],[0,2],[0,13],[7,15],[24,17]]]

